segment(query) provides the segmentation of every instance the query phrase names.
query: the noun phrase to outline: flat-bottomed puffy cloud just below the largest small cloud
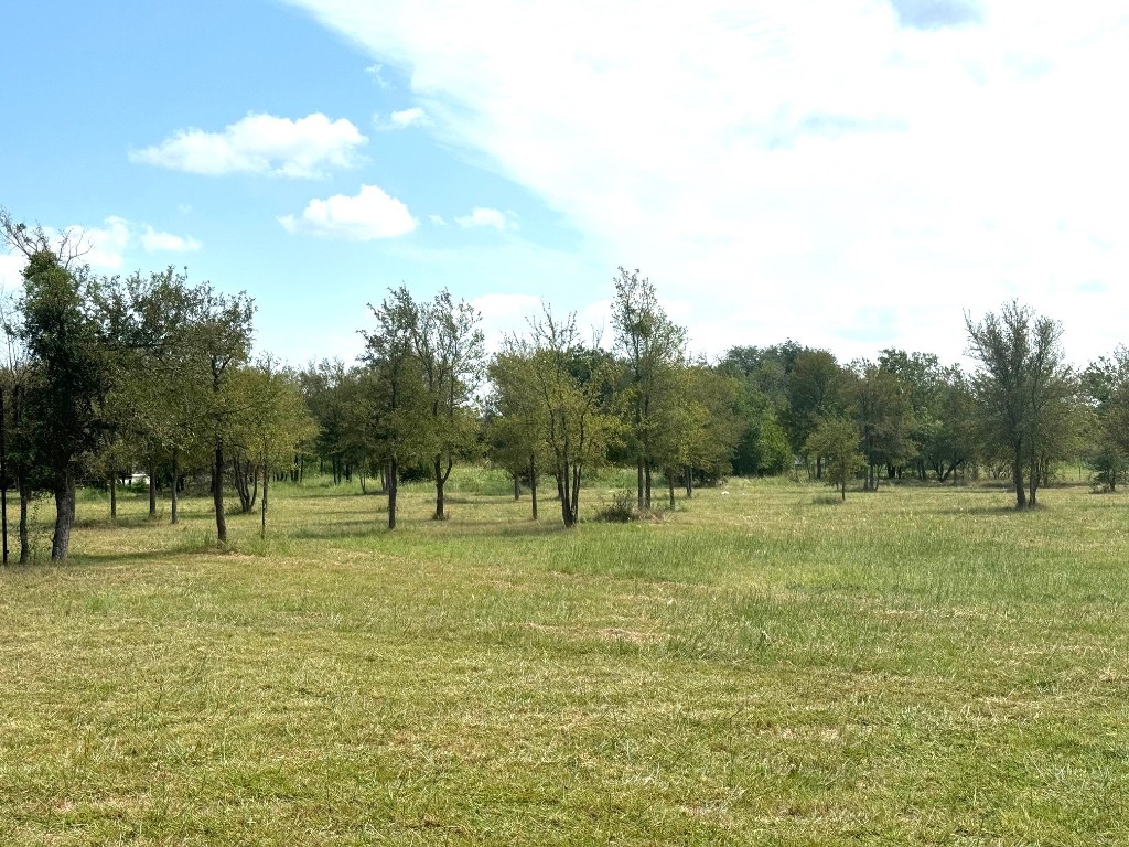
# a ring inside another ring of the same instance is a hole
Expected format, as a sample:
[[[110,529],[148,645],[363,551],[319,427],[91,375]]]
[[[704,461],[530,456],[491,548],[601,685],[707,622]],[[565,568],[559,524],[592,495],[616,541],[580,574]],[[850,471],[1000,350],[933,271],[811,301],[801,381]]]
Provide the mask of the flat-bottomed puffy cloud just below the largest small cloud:
[[[415,219],[400,200],[376,185],[361,185],[355,197],[334,194],[310,200],[300,218],[279,218],[289,233],[335,236],[350,241],[395,238],[415,229]]]

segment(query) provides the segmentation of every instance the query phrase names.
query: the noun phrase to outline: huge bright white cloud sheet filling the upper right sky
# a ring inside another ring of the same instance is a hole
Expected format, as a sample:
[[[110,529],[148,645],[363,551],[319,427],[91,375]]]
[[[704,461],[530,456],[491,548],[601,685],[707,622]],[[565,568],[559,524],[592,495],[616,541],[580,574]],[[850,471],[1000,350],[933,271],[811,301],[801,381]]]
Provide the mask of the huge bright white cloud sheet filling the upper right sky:
[[[987,0],[933,21],[908,0],[292,1],[394,64],[437,138],[610,269],[692,303],[692,347],[955,359],[963,309],[1016,294],[1064,321],[1073,358],[1121,340],[1115,5]]]

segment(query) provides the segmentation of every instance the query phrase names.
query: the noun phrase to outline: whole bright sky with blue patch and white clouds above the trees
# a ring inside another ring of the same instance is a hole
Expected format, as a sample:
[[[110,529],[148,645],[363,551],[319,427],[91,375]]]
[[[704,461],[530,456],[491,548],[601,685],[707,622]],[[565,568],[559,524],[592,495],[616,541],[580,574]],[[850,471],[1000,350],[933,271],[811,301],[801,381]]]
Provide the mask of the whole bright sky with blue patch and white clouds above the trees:
[[[296,366],[400,285],[610,344],[621,265],[707,357],[959,361],[1012,299],[1126,341],[1118,2],[14,0],[0,75],[0,206],[246,291]]]

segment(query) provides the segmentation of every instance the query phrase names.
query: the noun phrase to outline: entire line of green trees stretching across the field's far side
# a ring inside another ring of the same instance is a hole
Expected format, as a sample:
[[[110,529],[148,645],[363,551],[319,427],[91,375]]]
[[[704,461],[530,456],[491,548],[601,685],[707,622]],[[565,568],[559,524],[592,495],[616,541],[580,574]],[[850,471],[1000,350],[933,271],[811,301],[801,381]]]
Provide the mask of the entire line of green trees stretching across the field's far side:
[[[730,473],[806,473],[843,497],[856,479],[876,490],[988,474],[1027,508],[1062,460],[1086,461],[1110,490],[1129,470],[1129,353],[1071,368],[1061,326],[1017,302],[966,315],[977,368],[965,373],[898,349],[840,363],[791,340],[694,358],[650,281],[623,268],[609,347],[545,304],[488,356],[469,303],[401,286],[370,304],[356,363],[294,369],[252,357],[246,294],[173,268],[97,276],[79,238],[2,209],[0,230],[27,260],[5,308],[0,384],[0,494],[19,500],[21,561],[33,497],[53,496],[52,558],[65,558],[77,486],[105,486],[114,515],[119,480],[138,470],[152,517],[167,486],[173,523],[185,487],[205,486],[220,543],[226,491],[242,512],[257,500],[265,532],[271,481],[309,462],[383,492],[390,529],[402,480],[430,480],[444,519],[452,469],[483,460],[510,474],[515,498],[528,491],[534,518],[551,480],[566,526],[602,464],[634,470],[638,513],[657,507],[660,486],[673,506],[676,490],[692,497]],[[2,534],[7,557],[7,523]]]

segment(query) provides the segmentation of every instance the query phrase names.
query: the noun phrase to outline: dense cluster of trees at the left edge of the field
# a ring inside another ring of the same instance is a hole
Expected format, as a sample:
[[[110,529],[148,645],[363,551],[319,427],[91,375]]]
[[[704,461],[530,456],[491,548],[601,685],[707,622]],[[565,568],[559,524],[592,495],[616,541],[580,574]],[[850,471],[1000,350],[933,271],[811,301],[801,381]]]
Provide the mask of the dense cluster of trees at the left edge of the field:
[[[23,291],[6,304],[0,381],[3,555],[7,492],[19,500],[19,560],[32,556],[29,508],[55,505],[51,558],[67,558],[76,488],[105,484],[116,517],[117,482],[142,469],[149,513],[157,487],[172,496],[207,474],[216,535],[227,541],[225,489],[239,509],[260,503],[316,431],[297,375],[270,356],[252,360],[254,303],[173,268],[128,278],[93,273],[80,239],[52,238],[0,210],[0,232],[27,260]],[[262,486],[260,496],[260,484]]]

